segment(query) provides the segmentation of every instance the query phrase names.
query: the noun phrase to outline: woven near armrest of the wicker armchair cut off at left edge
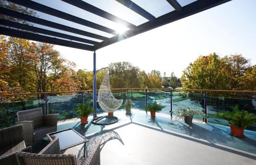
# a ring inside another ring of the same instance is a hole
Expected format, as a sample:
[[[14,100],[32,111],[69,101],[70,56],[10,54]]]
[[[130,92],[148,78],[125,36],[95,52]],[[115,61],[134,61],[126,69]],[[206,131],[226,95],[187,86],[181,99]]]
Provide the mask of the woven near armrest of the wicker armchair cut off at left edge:
[[[3,146],[1,147],[1,150],[0,150],[0,155],[1,155],[0,158],[14,154],[17,151],[22,151],[25,148],[26,148],[25,141],[22,141],[15,146],[12,146],[12,145]]]

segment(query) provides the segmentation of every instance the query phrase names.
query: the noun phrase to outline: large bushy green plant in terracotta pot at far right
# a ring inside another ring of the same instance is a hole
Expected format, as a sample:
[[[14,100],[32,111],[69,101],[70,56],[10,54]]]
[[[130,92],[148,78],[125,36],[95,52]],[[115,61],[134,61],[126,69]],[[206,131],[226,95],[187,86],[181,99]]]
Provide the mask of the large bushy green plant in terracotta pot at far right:
[[[254,124],[256,116],[244,110],[240,111],[237,105],[231,108],[231,112],[222,111],[217,113],[217,116],[229,121],[230,134],[244,137],[244,128]]]

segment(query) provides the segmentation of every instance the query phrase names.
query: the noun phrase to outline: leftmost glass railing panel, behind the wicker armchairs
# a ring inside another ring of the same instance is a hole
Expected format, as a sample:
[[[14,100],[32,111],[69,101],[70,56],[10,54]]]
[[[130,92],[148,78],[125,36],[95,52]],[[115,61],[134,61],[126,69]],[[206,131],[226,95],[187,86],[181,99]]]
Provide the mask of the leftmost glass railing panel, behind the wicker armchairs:
[[[0,98],[0,129],[9,127],[17,122],[17,112],[42,107],[45,111],[45,101],[40,96],[13,96]]]

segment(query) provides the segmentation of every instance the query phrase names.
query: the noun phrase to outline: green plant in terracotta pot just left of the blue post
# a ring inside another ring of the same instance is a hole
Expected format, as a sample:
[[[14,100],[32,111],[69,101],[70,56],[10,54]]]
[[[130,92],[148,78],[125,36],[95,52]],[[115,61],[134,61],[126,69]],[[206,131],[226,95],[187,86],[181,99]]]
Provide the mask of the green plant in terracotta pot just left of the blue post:
[[[94,112],[94,108],[90,106],[91,102],[86,102],[85,104],[80,104],[76,109],[78,117],[81,119],[81,124],[88,123],[88,116]]]

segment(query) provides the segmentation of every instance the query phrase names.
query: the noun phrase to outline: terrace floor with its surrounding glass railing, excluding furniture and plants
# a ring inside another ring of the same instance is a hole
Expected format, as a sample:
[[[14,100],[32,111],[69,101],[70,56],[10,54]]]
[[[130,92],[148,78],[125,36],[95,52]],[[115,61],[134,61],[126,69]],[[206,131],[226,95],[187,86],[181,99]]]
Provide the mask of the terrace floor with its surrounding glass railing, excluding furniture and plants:
[[[215,115],[233,104],[255,114],[254,93],[229,94],[227,97],[227,92],[217,91],[218,97],[214,97],[214,92],[209,91],[205,95],[202,91],[172,90],[170,97],[169,90],[119,89],[114,95],[133,101],[132,115],[125,115],[124,106],[121,106],[114,112],[119,119],[117,123],[100,126],[90,122],[92,116],[87,125],[82,125],[76,118],[74,109],[78,104],[92,100],[90,91],[82,92],[44,94],[47,99],[37,99],[38,94],[25,94],[23,101],[12,101],[17,95],[4,96],[1,116],[8,117],[8,121],[4,122],[2,118],[1,126],[14,124],[17,111],[43,107],[49,114],[60,114],[57,130],[73,128],[87,139],[102,135],[101,164],[253,164],[256,160],[255,125],[245,130],[244,138],[235,137],[229,134],[228,122]],[[145,102],[154,100],[165,108],[152,118],[144,109]],[[191,125],[175,119],[175,110],[179,106],[202,108],[205,101],[208,118],[194,116]],[[106,115],[100,108],[97,113]],[[47,144],[48,141],[42,140],[33,146],[33,152],[39,152]]]

